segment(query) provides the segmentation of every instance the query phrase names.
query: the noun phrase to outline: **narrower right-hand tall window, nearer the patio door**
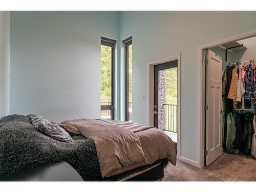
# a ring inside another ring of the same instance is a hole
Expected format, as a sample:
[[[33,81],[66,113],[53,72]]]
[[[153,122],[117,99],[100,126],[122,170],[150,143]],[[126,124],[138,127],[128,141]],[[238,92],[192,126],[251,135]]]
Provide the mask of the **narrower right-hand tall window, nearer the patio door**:
[[[132,36],[123,40],[125,44],[125,77],[126,77],[126,121],[133,121],[133,40]]]

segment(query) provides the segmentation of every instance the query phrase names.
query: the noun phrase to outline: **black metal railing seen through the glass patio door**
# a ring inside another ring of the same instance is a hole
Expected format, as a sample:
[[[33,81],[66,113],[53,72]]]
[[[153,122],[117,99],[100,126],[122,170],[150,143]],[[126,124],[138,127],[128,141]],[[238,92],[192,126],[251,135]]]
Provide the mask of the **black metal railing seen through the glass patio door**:
[[[178,131],[177,104],[163,104],[163,105],[165,105],[165,130],[177,133]]]

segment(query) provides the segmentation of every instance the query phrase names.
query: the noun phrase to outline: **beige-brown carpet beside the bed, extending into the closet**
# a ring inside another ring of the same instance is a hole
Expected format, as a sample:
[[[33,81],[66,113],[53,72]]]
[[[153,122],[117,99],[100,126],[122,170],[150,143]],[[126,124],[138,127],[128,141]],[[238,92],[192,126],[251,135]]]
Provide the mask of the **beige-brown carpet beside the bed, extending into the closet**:
[[[201,169],[178,160],[176,166],[167,165],[160,181],[256,181],[256,159],[223,153]]]

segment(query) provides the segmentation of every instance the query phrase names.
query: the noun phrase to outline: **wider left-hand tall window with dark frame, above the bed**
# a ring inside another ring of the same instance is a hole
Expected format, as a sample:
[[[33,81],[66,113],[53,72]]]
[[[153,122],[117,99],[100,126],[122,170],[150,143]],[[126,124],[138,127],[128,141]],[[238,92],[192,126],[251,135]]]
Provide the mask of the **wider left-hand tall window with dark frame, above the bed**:
[[[101,37],[101,118],[114,119],[114,53],[116,40]]]

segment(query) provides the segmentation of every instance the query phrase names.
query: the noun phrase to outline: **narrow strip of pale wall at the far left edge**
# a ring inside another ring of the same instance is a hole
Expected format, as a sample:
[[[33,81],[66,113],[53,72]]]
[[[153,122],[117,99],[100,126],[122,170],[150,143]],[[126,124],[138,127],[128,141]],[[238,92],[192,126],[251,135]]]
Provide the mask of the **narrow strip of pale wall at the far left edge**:
[[[9,115],[10,12],[0,11],[0,118]]]

